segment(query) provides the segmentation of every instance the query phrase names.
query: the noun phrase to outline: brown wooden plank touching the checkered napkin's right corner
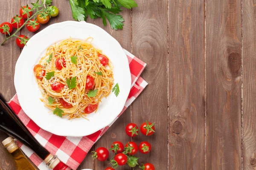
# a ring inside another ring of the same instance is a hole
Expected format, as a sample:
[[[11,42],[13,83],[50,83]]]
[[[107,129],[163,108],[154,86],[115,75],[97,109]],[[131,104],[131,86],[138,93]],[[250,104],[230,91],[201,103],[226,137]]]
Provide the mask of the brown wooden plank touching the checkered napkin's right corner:
[[[156,122],[156,133],[142,133],[132,141],[151,143],[151,152],[145,156],[137,153],[141,163],[152,163],[157,170],[168,169],[168,108],[167,108],[167,57],[168,57],[168,11],[167,0],[152,3],[137,0],[132,10],[132,51],[147,63],[142,77],[148,87],[134,101],[132,121],[141,125],[145,120]],[[136,168],[139,169],[139,168]]]

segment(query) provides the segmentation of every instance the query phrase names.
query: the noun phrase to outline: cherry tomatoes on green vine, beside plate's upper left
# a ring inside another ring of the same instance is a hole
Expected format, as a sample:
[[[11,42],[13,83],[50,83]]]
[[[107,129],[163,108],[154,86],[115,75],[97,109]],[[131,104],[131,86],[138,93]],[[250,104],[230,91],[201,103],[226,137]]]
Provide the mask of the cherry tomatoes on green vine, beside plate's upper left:
[[[32,8],[28,5],[21,6],[20,15],[16,15],[12,18],[11,23],[4,22],[0,25],[0,33],[4,34],[5,40],[1,43],[3,45],[7,40],[12,37],[16,37],[16,44],[23,48],[26,45],[26,42],[29,40],[26,35],[19,35],[17,33],[20,31],[23,26],[26,26],[27,30],[30,32],[35,32],[40,28],[40,24],[45,24],[49,21],[50,17],[56,17],[58,15],[58,8],[56,6],[50,6],[52,0],[44,0],[39,4],[39,0],[36,3],[31,3]],[[33,14],[33,12],[35,12]],[[35,17],[33,19],[33,17]],[[25,21],[26,20],[26,21]],[[13,28],[17,30],[15,33],[12,33]],[[9,37],[6,37],[9,35]]]

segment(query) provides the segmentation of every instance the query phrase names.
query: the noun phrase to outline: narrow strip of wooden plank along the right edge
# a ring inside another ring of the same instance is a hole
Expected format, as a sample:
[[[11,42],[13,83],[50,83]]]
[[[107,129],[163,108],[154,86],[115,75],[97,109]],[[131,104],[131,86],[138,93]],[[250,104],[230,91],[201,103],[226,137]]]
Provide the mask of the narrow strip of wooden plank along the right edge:
[[[256,168],[256,89],[255,89],[255,69],[256,69],[256,1],[243,1],[243,169],[255,170]]]

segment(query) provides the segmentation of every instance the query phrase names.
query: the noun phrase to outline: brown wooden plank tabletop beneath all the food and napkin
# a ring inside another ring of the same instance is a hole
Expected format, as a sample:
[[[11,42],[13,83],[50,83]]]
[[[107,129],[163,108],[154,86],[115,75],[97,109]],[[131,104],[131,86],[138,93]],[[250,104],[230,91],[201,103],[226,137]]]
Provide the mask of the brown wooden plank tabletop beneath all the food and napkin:
[[[149,83],[92,150],[110,147],[116,140],[147,140],[151,153],[137,156],[156,170],[256,169],[256,1],[136,1],[137,8],[122,12],[123,30],[104,27],[102,20],[87,20],[148,64],[142,77]],[[27,3],[30,0],[1,0],[0,23],[10,22]],[[53,4],[60,14],[40,30],[73,20],[68,0]],[[20,34],[33,35],[26,28]],[[8,100],[15,94],[20,51],[15,40],[0,47],[0,91]],[[145,120],[156,122],[153,136],[131,139],[125,134],[126,124]],[[0,133],[0,139],[5,138]],[[106,166],[89,154],[79,170]],[[2,145],[0,167],[15,169]],[[119,169],[131,170],[127,165]]]

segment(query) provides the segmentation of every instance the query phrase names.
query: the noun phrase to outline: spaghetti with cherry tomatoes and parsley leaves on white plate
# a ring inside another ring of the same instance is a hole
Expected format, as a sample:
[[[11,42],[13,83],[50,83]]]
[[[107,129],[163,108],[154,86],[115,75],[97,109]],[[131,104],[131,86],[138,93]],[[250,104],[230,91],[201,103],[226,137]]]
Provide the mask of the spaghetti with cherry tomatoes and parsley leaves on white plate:
[[[39,61],[40,67],[34,68],[41,101],[52,111],[61,109],[61,116],[68,119],[85,118],[111,93],[113,65],[92,40],[67,39],[52,45]]]

